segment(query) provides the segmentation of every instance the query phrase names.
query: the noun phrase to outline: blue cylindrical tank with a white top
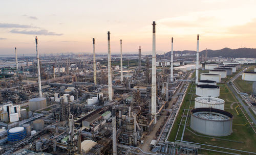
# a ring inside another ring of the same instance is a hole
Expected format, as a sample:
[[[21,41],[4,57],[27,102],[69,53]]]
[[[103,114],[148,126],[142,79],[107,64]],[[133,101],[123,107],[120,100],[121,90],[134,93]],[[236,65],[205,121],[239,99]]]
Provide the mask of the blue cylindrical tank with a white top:
[[[11,128],[7,133],[8,141],[12,143],[23,140],[26,135],[26,129],[20,126]]]

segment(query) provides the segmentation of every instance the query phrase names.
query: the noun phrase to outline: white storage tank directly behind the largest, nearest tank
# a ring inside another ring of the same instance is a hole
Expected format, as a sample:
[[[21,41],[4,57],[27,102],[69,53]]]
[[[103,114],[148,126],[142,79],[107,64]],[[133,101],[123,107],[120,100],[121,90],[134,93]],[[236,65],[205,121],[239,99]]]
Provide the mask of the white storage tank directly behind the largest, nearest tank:
[[[224,110],[225,101],[216,97],[195,98],[195,108],[215,108]]]

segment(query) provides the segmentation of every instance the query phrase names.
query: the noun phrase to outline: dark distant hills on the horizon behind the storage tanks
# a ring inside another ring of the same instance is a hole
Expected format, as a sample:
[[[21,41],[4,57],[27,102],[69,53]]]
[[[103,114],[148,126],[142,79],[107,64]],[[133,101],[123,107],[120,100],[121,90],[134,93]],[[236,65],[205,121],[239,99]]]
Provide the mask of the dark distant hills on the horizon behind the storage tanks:
[[[207,49],[208,57],[224,57],[224,58],[256,58],[256,48],[223,48],[218,50]],[[174,51],[174,54],[196,54],[195,50]],[[205,55],[205,50],[200,51],[199,56]],[[170,56],[170,51],[166,56]]]

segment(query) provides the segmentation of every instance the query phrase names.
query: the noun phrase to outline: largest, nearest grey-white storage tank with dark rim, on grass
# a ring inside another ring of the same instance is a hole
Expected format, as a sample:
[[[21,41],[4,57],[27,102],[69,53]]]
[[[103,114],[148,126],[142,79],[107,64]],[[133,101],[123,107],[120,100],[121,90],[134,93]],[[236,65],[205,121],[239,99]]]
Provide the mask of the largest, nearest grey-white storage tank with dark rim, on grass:
[[[227,136],[232,133],[232,114],[214,108],[191,110],[190,127],[204,135]]]

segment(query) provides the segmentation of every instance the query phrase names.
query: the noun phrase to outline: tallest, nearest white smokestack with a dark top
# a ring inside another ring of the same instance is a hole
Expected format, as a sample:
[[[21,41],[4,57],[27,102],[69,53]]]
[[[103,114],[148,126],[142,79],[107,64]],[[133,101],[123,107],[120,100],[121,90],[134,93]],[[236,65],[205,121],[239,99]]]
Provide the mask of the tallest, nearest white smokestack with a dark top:
[[[156,93],[156,22],[153,21],[153,41],[152,41],[152,86],[151,86],[151,114],[154,124],[157,123],[157,93]]]

